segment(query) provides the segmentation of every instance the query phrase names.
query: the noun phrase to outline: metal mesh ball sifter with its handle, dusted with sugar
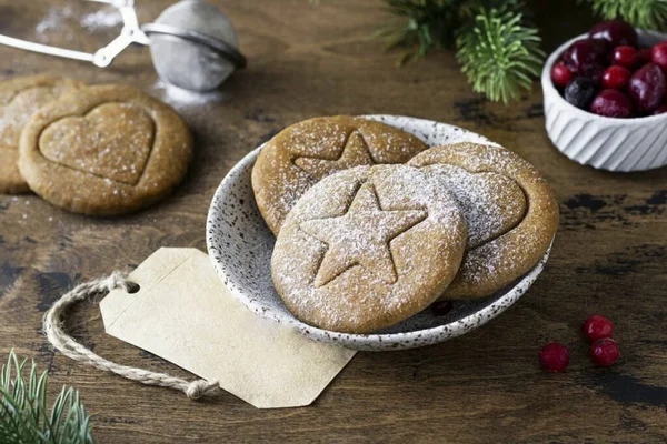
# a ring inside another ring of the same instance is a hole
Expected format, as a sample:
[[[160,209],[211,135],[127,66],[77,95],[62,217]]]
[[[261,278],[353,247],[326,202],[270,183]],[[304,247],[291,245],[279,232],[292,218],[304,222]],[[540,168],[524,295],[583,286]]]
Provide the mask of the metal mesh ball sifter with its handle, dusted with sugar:
[[[92,62],[106,68],[132,43],[150,47],[158,74],[191,91],[218,88],[237,69],[246,68],[231,21],[203,0],[182,0],[153,23],[139,26],[133,0],[86,0],[111,4],[122,17],[122,30],[94,53],[34,43],[0,34],[0,43],[28,51]]]

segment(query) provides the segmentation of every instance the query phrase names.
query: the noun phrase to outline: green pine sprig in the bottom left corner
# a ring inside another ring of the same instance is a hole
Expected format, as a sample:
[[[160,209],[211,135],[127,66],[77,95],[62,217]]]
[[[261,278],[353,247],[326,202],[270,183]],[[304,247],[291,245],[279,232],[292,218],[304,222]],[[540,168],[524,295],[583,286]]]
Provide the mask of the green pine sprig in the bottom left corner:
[[[90,434],[90,418],[79,400],[79,392],[63,386],[49,413],[47,372],[38,376],[32,362],[26,380],[26,362],[19,361],[12,351],[0,372],[0,443],[94,443]]]

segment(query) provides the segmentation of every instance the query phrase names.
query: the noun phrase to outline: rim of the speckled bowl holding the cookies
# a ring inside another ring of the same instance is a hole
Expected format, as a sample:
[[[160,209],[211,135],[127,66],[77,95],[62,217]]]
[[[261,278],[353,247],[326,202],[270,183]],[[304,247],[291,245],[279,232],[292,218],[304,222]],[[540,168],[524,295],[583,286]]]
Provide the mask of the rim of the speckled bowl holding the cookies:
[[[419,118],[411,118],[411,117],[405,117],[405,115],[391,115],[391,114],[362,114],[359,117],[365,118],[365,119],[382,120],[382,121],[385,119],[406,119],[406,120],[409,120],[412,122],[420,122],[420,123],[429,125],[429,127],[430,125],[434,125],[434,127],[447,125],[452,129],[457,129],[458,131],[461,131],[461,133],[464,133],[464,134],[472,134],[475,137],[478,137],[481,140],[486,141],[486,143],[500,147],[498,143],[488,140],[486,137],[484,137],[481,134],[478,134],[474,131],[469,131],[469,130],[466,130],[466,129],[462,129],[460,127],[456,127],[456,125],[452,125],[449,123],[437,122],[437,121],[432,121],[432,120],[428,120],[428,119],[419,119]],[[391,124],[391,123],[387,123],[387,124]],[[428,337],[437,336],[439,333],[448,332],[449,335],[446,337],[447,340],[460,336],[460,335],[467,333],[468,331],[474,330],[474,329],[467,329],[468,325],[475,324],[476,325],[475,327],[481,326],[481,325],[486,324],[487,322],[491,321],[492,319],[499,316],[502,312],[505,312],[507,309],[512,306],[519,299],[521,299],[526,294],[528,287],[531,286],[532,283],[537,280],[537,278],[542,272],[542,270],[549,259],[549,255],[551,252],[551,246],[549,246],[549,249],[545,252],[545,254],[540,258],[540,260],[528,272],[526,272],[520,278],[518,278],[514,282],[514,284],[510,284],[514,286],[511,286],[510,290],[508,290],[501,296],[497,297],[492,302],[489,302],[484,307],[475,311],[474,313],[468,314],[465,317],[448,322],[446,324],[440,324],[440,325],[436,325],[436,326],[431,326],[431,327],[427,327],[427,329],[412,330],[412,331],[408,331],[408,332],[397,332],[397,333],[369,333],[369,334],[342,333],[342,332],[335,332],[335,331],[330,331],[330,330],[323,330],[323,329],[307,324],[307,323],[298,320],[293,315],[288,316],[286,314],[277,313],[270,309],[267,309],[266,306],[261,305],[260,303],[256,302],[255,297],[252,297],[249,294],[246,294],[241,289],[237,287],[232,283],[233,281],[230,279],[230,275],[227,273],[226,268],[223,266],[222,262],[217,261],[215,258],[216,255],[211,254],[211,251],[219,251],[218,246],[216,244],[213,244],[213,242],[212,242],[213,236],[210,235],[210,232],[212,230],[212,224],[215,223],[215,220],[216,220],[218,211],[219,211],[216,209],[216,206],[217,206],[216,203],[222,203],[222,196],[226,193],[226,189],[229,188],[230,183],[239,180],[239,178],[241,176],[240,172],[243,169],[248,168],[249,165],[251,167],[255,164],[259,153],[261,152],[261,150],[263,149],[265,145],[266,145],[266,142],[260,144],[259,147],[257,147],[256,149],[250,151],[248,154],[246,154],[241,160],[239,160],[231,168],[231,170],[229,170],[227,175],[222,179],[222,181],[220,182],[220,185],[218,185],[216,193],[213,194],[213,198],[211,200],[211,205],[209,206],[209,212],[207,215],[207,223],[206,223],[206,233],[207,233],[206,242],[207,242],[207,248],[209,251],[209,258],[210,258],[210,261],[212,262],[213,268],[215,268],[218,276],[220,278],[220,280],[223,283],[227,283],[226,286],[228,287],[228,290],[246,307],[248,307],[250,311],[252,311],[253,313],[256,313],[257,315],[259,315],[261,317],[267,317],[273,322],[289,325],[297,330],[302,330],[305,332],[306,336],[311,340],[316,340],[316,341],[320,341],[320,342],[334,342],[334,343],[338,343],[339,345],[351,347],[351,349],[357,349],[357,350],[367,350],[367,351],[368,350],[386,350],[386,351],[388,351],[388,350],[405,350],[405,349],[407,349],[408,346],[399,345],[400,343],[405,343],[406,339],[415,337],[414,346],[420,346],[420,345],[430,345],[430,344],[441,342],[441,341],[432,341],[432,342],[428,341]],[[552,242],[554,242],[554,240],[551,240],[551,245],[552,245]],[[526,287],[526,290],[521,290],[522,286],[526,284],[528,285]],[[489,297],[492,297],[492,296],[489,296]],[[338,341],[336,339],[338,339]],[[424,343],[422,344],[416,343],[417,339],[421,339]],[[387,345],[396,344],[396,346],[391,347],[391,349],[389,349],[389,346],[386,349],[371,349],[370,347],[371,345],[377,345],[378,343],[380,343],[380,344],[385,343]]]

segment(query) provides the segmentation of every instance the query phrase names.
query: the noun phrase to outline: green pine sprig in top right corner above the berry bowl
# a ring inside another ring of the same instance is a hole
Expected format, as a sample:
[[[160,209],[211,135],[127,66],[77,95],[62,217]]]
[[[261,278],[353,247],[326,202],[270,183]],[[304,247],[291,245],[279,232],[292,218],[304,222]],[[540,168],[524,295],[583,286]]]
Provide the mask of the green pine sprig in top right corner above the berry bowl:
[[[589,0],[606,20],[623,18],[636,28],[667,30],[667,0]]]

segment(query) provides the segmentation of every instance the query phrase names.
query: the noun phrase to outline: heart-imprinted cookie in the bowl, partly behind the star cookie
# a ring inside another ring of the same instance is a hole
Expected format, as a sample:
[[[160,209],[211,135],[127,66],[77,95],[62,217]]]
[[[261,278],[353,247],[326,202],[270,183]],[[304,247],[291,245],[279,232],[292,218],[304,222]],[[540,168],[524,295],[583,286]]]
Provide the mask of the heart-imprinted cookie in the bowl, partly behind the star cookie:
[[[547,252],[558,230],[558,203],[535,168],[505,148],[457,143],[409,162],[457,199],[468,246],[445,300],[485,297],[520,278]]]

